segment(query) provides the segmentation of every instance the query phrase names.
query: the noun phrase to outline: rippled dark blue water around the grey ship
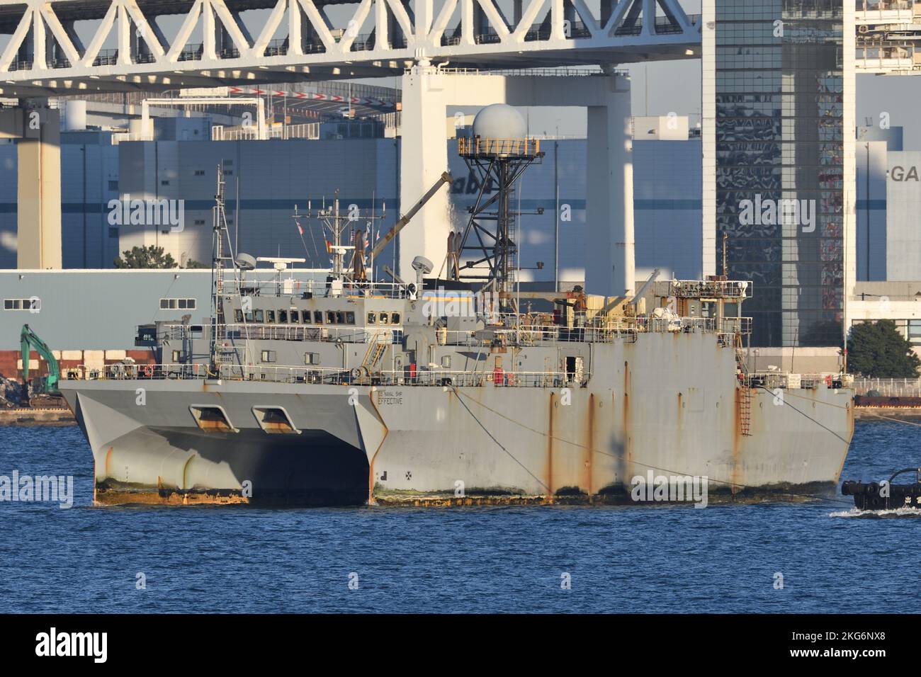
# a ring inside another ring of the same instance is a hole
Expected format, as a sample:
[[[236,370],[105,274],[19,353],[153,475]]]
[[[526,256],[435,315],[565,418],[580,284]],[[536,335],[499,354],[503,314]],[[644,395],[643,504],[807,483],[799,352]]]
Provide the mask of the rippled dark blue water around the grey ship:
[[[919,464],[921,427],[857,424],[843,479]],[[92,508],[76,427],[0,427],[13,469],[73,474],[76,501],[0,503],[5,612],[917,611],[921,519],[844,503]]]

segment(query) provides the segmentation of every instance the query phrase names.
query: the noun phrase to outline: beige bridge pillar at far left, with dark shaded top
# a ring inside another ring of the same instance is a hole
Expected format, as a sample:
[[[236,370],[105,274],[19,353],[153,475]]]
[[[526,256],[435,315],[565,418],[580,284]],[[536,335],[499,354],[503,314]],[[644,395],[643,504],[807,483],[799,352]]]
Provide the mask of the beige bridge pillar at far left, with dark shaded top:
[[[61,267],[61,118],[49,108],[0,111],[17,139],[17,268]]]

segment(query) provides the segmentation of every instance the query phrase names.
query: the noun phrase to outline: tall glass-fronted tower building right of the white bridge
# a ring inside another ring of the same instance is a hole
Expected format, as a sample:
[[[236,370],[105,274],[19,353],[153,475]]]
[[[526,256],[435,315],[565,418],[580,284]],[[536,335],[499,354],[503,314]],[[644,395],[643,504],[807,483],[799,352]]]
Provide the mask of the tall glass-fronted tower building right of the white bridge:
[[[716,19],[709,62],[716,272],[724,272],[725,241],[725,273],[754,284],[745,311],[754,321],[752,345],[839,344],[847,184],[844,2],[705,4]]]

